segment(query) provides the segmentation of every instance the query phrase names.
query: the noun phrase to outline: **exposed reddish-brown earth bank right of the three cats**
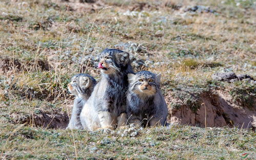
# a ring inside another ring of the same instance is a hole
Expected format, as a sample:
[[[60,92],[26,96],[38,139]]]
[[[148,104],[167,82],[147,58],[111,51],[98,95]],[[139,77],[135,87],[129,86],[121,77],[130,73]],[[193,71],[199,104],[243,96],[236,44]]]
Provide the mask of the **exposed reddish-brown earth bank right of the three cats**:
[[[171,100],[174,101],[175,99]],[[168,122],[200,127],[238,126],[255,130],[255,108],[250,110],[232,103],[232,98],[222,91],[201,94],[199,103],[201,106],[195,111],[186,105],[169,109]]]

